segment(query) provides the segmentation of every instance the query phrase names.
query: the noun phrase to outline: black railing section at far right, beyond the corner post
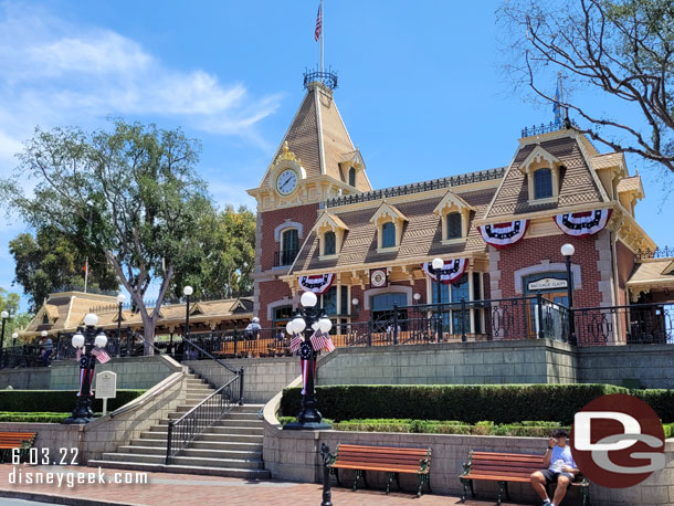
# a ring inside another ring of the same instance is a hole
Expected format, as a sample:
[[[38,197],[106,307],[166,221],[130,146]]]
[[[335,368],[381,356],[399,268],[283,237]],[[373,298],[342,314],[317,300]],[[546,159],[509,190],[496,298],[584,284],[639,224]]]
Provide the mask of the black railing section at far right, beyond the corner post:
[[[674,345],[674,304],[573,310],[579,346]]]

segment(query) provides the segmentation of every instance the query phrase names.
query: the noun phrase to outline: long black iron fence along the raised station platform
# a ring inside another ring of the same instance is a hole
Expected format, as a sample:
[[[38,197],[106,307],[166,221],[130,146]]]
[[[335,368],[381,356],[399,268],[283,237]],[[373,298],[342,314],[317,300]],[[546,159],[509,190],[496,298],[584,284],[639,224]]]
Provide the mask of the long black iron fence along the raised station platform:
[[[578,346],[622,344],[674,345],[674,304],[569,309],[544,295],[460,301],[447,304],[394,306],[369,321],[348,323],[334,318],[331,339],[337,347],[414,345],[462,340],[548,338]],[[571,326],[573,333],[571,333]],[[22,345],[7,347],[0,368],[39,367],[52,360],[75,358],[71,334],[59,334],[53,351],[44,359],[45,347]],[[158,337],[155,352],[176,360],[289,357],[291,336],[285,325],[256,330],[230,329]],[[106,350],[110,357],[141,356],[148,346],[140,334],[123,329],[108,334]]]

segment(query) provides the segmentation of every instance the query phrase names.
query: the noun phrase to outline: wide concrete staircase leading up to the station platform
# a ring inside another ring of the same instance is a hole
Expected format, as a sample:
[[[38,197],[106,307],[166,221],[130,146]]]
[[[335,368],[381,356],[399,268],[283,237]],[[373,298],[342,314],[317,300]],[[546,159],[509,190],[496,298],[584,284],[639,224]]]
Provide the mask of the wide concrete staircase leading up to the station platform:
[[[177,420],[187,411],[214,392],[206,381],[189,375],[187,400],[177,411],[169,413]],[[257,412],[262,404],[232,408],[224,418],[180,451],[165,465],[168,420],[161,420],[149,431],[116,452],[104,453],[101,460],[91,460],[87,465],[135,471],[157,471],[186,474],[209,474],[241,478],[264,479],[270,472],[262,462],[262,420]]]

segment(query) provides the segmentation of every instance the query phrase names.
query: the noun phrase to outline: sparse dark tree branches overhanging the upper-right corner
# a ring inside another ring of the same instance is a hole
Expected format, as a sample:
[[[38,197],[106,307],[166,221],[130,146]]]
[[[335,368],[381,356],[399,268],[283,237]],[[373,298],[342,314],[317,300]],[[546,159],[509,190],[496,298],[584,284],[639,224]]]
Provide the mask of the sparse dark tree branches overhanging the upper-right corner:
[[[634,108],[639,124],[623,116],[629,107],[603,114],[591,96],[561,101],[590,138],[674,172],[672,0],[506,0],[499,12],[513,29],[506,70],[517,84],[554,102],[550,83],[562,72],[571,86]]]

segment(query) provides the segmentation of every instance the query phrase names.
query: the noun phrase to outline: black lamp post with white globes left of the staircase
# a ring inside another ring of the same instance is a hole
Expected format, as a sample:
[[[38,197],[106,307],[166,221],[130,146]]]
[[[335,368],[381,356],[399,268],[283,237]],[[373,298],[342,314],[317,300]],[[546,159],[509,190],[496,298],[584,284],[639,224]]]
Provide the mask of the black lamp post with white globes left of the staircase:
[[[103,330],[96,329],[98,317],[89,313],[84,317],[84,330],[77,329],[72,338],[73,348],[80,349],[84,347],[84,354],[80,357],[80,396],[77,397],[77,407],[73,410],[73,414],[61,423],[69,425],[83,424],[94,419],[89,393],[96,357],[92,355],[92,350],[95,346],[105,348],[105,345],[107,345],[107,337],[105,337]]]

